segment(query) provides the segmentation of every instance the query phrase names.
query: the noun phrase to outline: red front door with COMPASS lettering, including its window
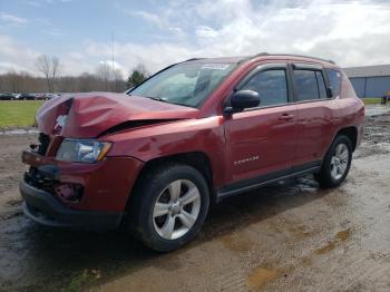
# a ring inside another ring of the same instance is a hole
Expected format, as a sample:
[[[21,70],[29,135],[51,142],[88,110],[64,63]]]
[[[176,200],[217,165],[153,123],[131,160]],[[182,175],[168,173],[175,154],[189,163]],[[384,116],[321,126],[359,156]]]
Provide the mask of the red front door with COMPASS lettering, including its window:
[[[296,144],[296,106],[286,64],[263,65],[237,89],[257,91],[259,107],[225,118],[228,181],[266,181],[291,171]]]

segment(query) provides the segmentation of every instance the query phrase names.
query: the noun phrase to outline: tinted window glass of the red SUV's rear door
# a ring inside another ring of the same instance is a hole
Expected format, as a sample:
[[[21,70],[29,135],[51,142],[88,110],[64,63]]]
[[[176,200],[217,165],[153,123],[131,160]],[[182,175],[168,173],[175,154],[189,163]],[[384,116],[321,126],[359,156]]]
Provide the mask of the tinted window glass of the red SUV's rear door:
[[[313,70],[294,70],[296,101],[319,99],[319,87]]]

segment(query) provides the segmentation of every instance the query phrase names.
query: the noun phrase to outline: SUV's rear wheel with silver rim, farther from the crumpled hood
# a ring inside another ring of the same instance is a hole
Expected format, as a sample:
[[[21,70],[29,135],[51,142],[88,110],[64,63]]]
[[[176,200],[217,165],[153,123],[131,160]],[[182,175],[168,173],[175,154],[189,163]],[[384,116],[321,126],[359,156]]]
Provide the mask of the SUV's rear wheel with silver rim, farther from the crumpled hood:
[[[320,173],[314,177],[321,187],[339,186],[350,171],[351,160],[351,140],[344,135],[338,135],[324,157]]]

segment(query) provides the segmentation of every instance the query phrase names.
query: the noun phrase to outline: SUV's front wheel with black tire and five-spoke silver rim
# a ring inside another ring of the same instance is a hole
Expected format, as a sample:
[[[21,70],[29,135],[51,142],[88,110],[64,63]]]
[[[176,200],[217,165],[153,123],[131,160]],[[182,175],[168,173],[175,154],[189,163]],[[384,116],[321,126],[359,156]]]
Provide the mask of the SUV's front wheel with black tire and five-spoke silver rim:
[[[208,211],[203,175],[183,164],[169,164],[140,177],[130,202],[136,236],[158,252],[177,250],[199,232]]]

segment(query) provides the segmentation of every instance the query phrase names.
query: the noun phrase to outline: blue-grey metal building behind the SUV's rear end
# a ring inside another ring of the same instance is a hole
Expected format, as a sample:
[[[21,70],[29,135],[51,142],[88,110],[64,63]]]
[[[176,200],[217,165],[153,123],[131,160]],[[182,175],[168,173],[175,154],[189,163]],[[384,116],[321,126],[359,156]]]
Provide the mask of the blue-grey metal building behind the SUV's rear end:
[[[390,90],[390,65],[344,68],[357,95],[364,97],[383,97]]]

